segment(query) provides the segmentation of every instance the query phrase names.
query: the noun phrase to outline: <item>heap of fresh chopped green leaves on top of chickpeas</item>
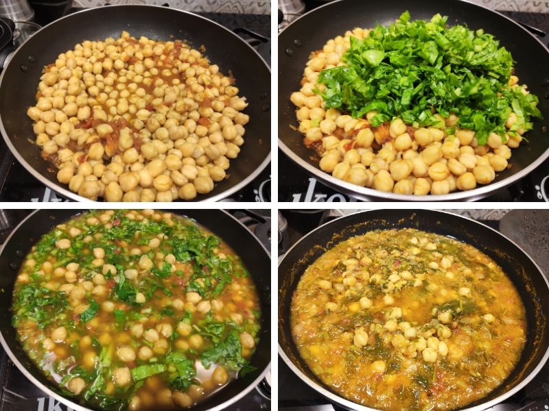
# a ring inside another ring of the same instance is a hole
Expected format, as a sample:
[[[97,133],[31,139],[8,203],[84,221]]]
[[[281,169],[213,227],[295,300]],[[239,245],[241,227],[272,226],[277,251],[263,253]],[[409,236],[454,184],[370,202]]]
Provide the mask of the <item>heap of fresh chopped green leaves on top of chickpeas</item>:
[[[447,118],[459,116],[458,125],[476,132],[480,145],[495,132],[506,141],[504,127],[511,111],[517,121],[509,130],[532,128],[541,118],[535,95],[509,85],[511,53],[490,34],[463,25],[446,27],[447,17],[410,21],[405,12],[389,27],[377,25],[369,36],[351,37],[343,56],[346,65],[322,71],[318,83],[327,108],[339,108],[354,117],[375,110],[377,127],[400,117],[414,127],[443,128]]]

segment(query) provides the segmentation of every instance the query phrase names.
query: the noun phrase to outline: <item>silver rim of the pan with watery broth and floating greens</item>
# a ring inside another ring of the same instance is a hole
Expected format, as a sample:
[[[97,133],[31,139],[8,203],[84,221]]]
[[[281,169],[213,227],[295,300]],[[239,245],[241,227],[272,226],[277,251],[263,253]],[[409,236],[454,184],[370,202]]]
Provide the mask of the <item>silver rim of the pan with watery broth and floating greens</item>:
[[[47,208],[37,208],[36,210],[32,211],[28,216],[26,216],[21,221],[21,223],[16,225],[16,227],[14,227],[14,229],[12,229],[12,232],[10,232],[10,235],[8,236],[8,238],[5,239],[3,245],[0,247],[0,254],[3,253],[5,246],[8,245],[8,242],[10,242],[12,236],[14,236],[14,234],[17,232],[17,230],[19,230],[19,227],[21,227],[21,225],[23,225],[23,223],[25,223],[28,219],[30,219],[32,216],[34,216],[34,214],[36,214],[38,212],[43,212],[43,211],[49,212],[49,211],[52,211],[52,210],[47,209]],[[75,211],[75,212],[77,212],[77,214],[76,214],[77,216],[82,214],[83,212],[86,212],[86,210],[79,210],[79,209],[63,209],[63,211],[69,211],[69,212],[70,211]],[[87,211],[89,211],[89,210],[87,210]],[[168,211],[174,212],[174,210],[168,210]],[[178,210],[178,211],[185,212],[185,210]],[[242,225],[242,227],[247,229],[246,225],[244,225],[241,221],[239,221],[235,216],[231,215],[231,213],[227,212],[226,210],[222,210],[222,209],[218,209],[218,211],[221,211],[224,214],[226,214],[227,216],[230,216],[231,219],[235,220],[237,223]],[[74,218],[74,217],[72,217],[72,218]],[[189,217],[187,217],[187,218],[189,218]],[[198,221],[196,221],[196,222],[199,223]],[[261,246],[264,249],[264,251],[266,251],[266,254],[267,254],[268,258],[270,259],[270,253],[267,251],[266,247],[261,243],[261,241],[259,241],[259,238],[257,238],[252,232],[250,232],[250,234],[252,234],[253,238],[259,244],[259,246]],[[269,343],[270,343],[270,341],[269,341]],[[56,400],[60,401],[61,403],[65,404],[65,406],[71,407],[74,411],[93,411],[91,408],[87,408],[86,406],[82,406],[79,403],[75,403],[67,397],[63,397],[62,395],[56,393],[54,390],[51,390],[49,387],[47,387],[44,384],[42,384],[41,382],[39,382],[38,379],[36,379],[36,377],[34,377],[34,375],[32,375],[32,373],[30,373],[30,371],[27,370],[27,367],[23,366],[23,364],[21,364],[19,359],[16,358],[16,356],[13,353],[12,349],[10,348],[8,343],[5,341],[5,338],[4,338],[1,330],[0,330],[0,345],[3,347],[4,351],[6,353],[8,353],[8,356],[10,357],[10,360],[15,364],[17,369],[19,369],[19,371],[21,371],[21,373],[23,373],[23,375],[28,380],[30,380],[30,382],[32,382],[32,384],[34,384],[34,386],[36,386],[40,390],[42,390],[43,393],[45,393],[45,394],[47,394],[51,397],[54,397],[54,399],[56,399]],[[250,382],[250,384],[248,384],[248,386],[246,388],[244,388],[244,390],[240,391],[240,393],[238,393],[237,395],[231,397],[227,401],[224,401],[223,403],[221,403],[221,404],[219,404],[219,405],[217,405],[213,408],[209,408],[209,411],[222,411],[222,410],[228,408],[229,406],[231,406],[231,404],[235,403],[236,401],[238,401],[239,399],[244,397],[245,395],[247,395],[251,390],[253,390],[257,386],[257,384],[259,384],[259,382],[261,382],[262,379],[264,379],[266,377],[267,373],[270,371],[270,364],[271,364],[271,361],[269,361],[268,364],[266,364],[265,369],[263,371],[261,371],[261,373],[259,373],[259,375],[253,380],[253,382]]]

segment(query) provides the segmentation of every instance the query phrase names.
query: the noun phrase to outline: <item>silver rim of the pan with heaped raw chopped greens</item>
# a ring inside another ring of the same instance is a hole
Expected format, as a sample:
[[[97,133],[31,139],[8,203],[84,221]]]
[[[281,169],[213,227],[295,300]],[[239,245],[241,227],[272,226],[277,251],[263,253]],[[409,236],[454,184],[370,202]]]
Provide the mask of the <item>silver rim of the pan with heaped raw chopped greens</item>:
[[[294,23],[299,21],[301,18],[304,18],[308,14],[311,14],[315,12],[316,10],[320,10],[321,8],[329,7],[330,5],[334,5],[337,3],[342,3],[347,0],[336,0],[332,1],[330,3],[326,3],[324,5],[321,5],[318,8],[315,8],[313,10],[310,10],[309,12],[303,14],[302,16],[299,16],[299,18],[296,18],[296,20],[292,21],[289,25],[284,27],[284,29],[279,33],[279,37],[283,32],[286,31],[290,26],[292,26]],[[488,12],[492,12],[493,14],[496,14],[507,21],[510,21],[515,26],[519,27],[523,32],[526,32],[531,38],[536,40],[541,47],[544,48],[546,53],[549,53],[548,47],[544,45],[539,38],[537,38],[534,34],[528,32],[527,29],[525,29],[522,25],[519,25],[516,21],[514,21],[512,18],[509,18],[508,16],[496,11],[491,10],[487,7],[484,7],[483,5],[479,5],[476,3],[473,3],[471,0],[454,0],[456,3],[467,3],[468,5],[486,10]],[[279,45],[280,47],[280,45]],[[280,50],[280,49],[279,49]],[[280,75],[280,73],[279,73]],[[289,101],[289,100],[288,100]],[[279,114],[280,115],[280,114]],[[539,165],[541,165],[542,162],[547,160],[549,158],[549,148],[546,149],[539,157],[528,164],[528,166],[524,167],[521,171],[519,171],[516,174],[510,175],[509,177],[506,177],[502,179],[499,182],[493,182],[490,184],[487,184],[486,186],[482,186],[479,188],[474,188],[473,190],[467,190],[467,191],[456,191],[451,192],[449,194],[445,195],[404,195],[404,194],[397,194],[395,192],[384,192],[379,190],[374,190],[373,188],[367,188],[367,187],[361,187],[357,186],[355,184],[351,184],[348,182],[344,182],[343,180],[337,179],[336,177],[333,177],[331,174],[325,173],[324,171],[320,170],[316,166],[312,166],[303,158],[301,158],[299,155],[294,153],[290,147],[285,145],[285,143],[279,138],[279,148],[285,153],[285,155],[288,155],[291,160],[296,162],[299,166],[301,166],[305,171],[307,171],[309,174],[314,175],[314,177],[320,179],[321,182],[328,184],[331,187],[335,188],[344,188],[344,190],[347,190],[348,192],[351,192],[349,194],[351,197],[357,198],[357,199],[371,199],[371,198],[377,198],[377,199],[384,199],[389,201],[477,201],[479,199],[482,199],[484,197],[487,197],[488,195],[492,194],[493,192],[500,190],[502,188],[505,188],[506,186],[510,186],[511,184],[517,182],[519,179],[522,179],[523,177],[526,177],[526,175],[530,174],[532,171],[534,171]],[[343,193],[345,194],[345,193]]]

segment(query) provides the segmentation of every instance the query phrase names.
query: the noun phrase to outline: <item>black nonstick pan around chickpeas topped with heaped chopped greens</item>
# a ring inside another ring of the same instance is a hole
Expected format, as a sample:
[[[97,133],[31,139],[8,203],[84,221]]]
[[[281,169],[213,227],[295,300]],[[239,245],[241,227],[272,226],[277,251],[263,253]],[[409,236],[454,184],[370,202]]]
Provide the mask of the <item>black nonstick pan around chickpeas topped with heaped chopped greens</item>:
[[[354,27],[388,25],[405,11],[412,19],[430,20],[436,13],[448,16],[448,24],[466,24],[470,29],[484,29],[500,40],[500,44],[516,61],[515,74],[521,84],[539,97],[539,110],[544,116],[535,121],[534,128],[518,149],[513,149],[510,169],[498,173],[487,186],[474,190],[451,192],[447,195],[399,195],[365,188],[336,179],[318,168],[318,158],[303,145],[303,136],[290,125],[297,125],[296,108],[290,101],[292,92],[301,88],[303,69],[312,51],[322,49],[330,38],[344,34]],[[279,147],[296,164],[303,167],[324,184],[358,199],[384,199],[394,201],[454,201],[477,200],[521,179],[549,157],[549,93],[548,73],[541,67],[549,66],[546,47],[524,27],[510,18],[479,5],[461,0],[341,0],[328,3],[294,21],[279,35]]]

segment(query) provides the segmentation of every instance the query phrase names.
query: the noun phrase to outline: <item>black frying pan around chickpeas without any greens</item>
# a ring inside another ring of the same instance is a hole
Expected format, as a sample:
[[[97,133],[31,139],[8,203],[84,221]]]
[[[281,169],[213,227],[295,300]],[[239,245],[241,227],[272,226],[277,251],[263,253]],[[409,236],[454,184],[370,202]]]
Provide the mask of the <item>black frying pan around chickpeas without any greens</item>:
[[[122,30],[132,36],[156,40],[187,40],[204,45],[206,55],[222,73],[233,73],[240,95],[247,97],[245,143],[231,161],[229,179],[216,183],[213,191],[198,200],[216,201],[251,182],[270,161],[270,69],[257,52],[239,36],[207,18],[172,8],[151,5],[113,5],[70,14],[45,26],[27,40],[0,76],[0,130],[13,155],[43,184],[76,201],[89,201],[57,181],[56,172],[40,157],[27,108],[44,66],[59,53],[84,40],[117,38]]]

